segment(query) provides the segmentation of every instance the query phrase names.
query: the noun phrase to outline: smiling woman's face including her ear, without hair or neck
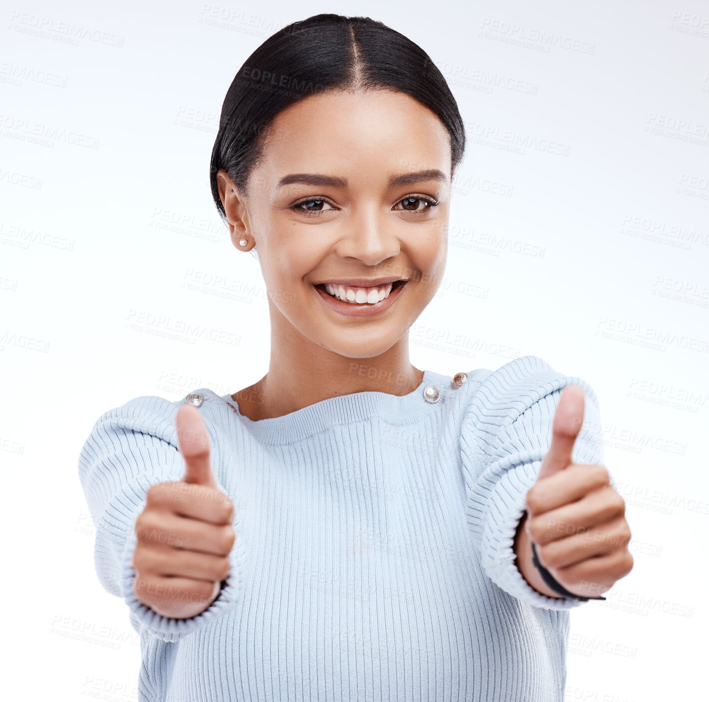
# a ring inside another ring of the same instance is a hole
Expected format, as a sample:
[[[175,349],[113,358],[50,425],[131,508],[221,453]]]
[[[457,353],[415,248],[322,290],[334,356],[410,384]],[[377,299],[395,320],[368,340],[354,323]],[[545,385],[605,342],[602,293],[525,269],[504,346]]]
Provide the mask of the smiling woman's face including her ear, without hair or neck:
[[[279,113],[248,198],[218,174],[234,245],[255,241],[272,325],[354,358],[406,335],[445,268],[450,154],[437,116],[399,92],[328,91]]]

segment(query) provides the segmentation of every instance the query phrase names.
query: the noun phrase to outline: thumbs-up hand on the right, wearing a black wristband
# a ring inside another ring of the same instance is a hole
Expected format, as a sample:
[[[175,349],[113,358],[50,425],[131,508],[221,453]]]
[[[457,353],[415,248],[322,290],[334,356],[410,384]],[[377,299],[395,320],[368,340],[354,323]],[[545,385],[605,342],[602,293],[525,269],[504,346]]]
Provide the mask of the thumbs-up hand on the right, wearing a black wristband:
[[[571,460],[584,421],[584,401],[584,391],[577,385],[562,391],[554,413],[552,443],[527,492],[523,528],[525,540],[534,542],[542,566],[559,584],[572,594],[598,597],[630,572],[633,559],[627,549],[631,533],[625,502],[610,486],[608,470]],[[544,594],[558,597],[543,584],[535,567],[530,567],[530,551],[524,559],[526,568],[520,569],[527,581]]]

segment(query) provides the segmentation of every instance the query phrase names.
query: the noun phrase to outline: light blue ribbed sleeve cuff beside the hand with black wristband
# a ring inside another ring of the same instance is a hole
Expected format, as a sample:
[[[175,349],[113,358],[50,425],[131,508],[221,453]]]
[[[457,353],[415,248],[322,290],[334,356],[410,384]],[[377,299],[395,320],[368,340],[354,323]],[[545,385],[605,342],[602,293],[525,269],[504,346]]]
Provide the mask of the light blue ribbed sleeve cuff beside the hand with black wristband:
[[[520,464],[508,470],[491,489],[483,519],[481,563],[496,585],[521,601],[545,609],[572,609],[584,602],[548,597],[532,588],[520,573],[513,550],[527,491],[534,484],[540,466],[540,461]]]

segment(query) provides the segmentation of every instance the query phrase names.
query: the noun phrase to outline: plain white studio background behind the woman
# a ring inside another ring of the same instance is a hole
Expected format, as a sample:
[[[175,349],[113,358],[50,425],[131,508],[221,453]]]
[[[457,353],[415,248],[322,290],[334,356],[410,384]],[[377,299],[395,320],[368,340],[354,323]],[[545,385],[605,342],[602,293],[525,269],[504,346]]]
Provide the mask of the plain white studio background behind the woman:
[[[46,0],[0,11],[7,698],[137,697],[77,459],[136,396],[234,392],[269,357],[258,262],[211,200],[235,72],[274,31],[368,15],[447,77],[469,143],[411,359],[534,354],[598,394],[635,569],[571,615],[569,701],[705,689],[709,6]],[[172,335],[172,336],[171,336]],[[7,486],[6,486],[7,487]]]

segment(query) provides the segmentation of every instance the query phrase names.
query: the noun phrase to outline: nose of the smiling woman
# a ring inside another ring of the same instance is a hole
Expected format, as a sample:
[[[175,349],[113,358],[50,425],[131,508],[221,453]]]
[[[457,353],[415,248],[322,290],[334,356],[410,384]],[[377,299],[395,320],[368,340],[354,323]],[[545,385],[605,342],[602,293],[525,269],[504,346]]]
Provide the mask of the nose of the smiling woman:
[[[368,266],[376,266],[401,251],[396,227],[381,213],[362,211],[344,224],[347,231],[335,246],[335,252],[342,258],[356,258]]]

